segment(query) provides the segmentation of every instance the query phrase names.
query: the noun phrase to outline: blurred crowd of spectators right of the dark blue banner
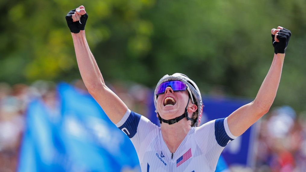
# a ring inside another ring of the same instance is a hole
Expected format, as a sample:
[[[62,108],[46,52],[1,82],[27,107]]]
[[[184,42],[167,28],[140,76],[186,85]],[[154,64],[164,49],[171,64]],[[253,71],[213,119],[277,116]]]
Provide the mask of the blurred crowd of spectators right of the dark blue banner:
[[[261,120],[255,149],[257,171],[305,171],[305,115],[283,106]]]

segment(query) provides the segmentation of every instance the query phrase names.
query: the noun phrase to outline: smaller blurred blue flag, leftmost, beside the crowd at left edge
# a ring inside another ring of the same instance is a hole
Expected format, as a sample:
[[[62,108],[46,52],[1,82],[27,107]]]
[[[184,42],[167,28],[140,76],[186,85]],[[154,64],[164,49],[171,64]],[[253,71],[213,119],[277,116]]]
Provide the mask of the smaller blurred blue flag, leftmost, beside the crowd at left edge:
[[[60,161],[65,157],[54,144],[57,126],[50,122],[54,115],[51,112],[41,100],[29,104],[18,171],[66,171]]]

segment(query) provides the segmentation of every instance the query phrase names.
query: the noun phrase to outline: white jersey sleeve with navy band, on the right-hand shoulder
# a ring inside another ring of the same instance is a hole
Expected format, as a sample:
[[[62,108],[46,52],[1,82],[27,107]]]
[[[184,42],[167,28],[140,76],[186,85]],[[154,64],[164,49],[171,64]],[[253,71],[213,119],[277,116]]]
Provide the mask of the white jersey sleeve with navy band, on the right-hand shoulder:
[[[216,168],[215,165],[224,147],[237,138],[230,132],[227,118],[215,119],[197,127],[195,135],[197,145],[205,154],[212,169]]]

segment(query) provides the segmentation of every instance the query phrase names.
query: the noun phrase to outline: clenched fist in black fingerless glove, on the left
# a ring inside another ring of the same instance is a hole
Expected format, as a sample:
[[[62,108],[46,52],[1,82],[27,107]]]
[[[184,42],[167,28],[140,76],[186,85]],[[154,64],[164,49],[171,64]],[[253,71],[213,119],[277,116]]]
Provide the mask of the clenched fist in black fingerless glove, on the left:
[[[66,21],[70,31],[72,33],[79,33],[81,30],[85,30],[87,18],[88,15],[83,5],[69,11],[69,13],[66,15]]]

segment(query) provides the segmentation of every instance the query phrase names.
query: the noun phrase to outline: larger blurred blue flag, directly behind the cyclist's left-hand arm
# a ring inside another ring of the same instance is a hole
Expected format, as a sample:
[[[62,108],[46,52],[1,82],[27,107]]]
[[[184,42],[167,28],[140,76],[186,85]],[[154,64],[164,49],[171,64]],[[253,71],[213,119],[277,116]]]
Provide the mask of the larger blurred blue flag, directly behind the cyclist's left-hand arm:
[[[118,130],[87,92],[65,83],[58,86],[58,92],[65,128],[62,140],[75,161],[99,171],[120,171],[122,167],[139,166],[129,138]]]

